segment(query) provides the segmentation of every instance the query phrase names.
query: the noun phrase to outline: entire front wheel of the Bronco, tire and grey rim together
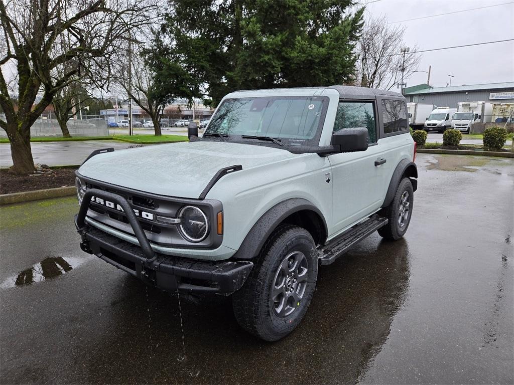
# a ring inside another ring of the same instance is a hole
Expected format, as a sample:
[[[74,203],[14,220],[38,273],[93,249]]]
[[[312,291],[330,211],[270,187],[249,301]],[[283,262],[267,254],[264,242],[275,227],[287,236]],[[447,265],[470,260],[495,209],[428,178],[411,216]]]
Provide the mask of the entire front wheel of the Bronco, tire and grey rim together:
[[[305,315],[317,276],[313,237],[298,226],[279,227],[264,244],[241,290],[233,295],[237,322],[266,341],[285,337]]]

